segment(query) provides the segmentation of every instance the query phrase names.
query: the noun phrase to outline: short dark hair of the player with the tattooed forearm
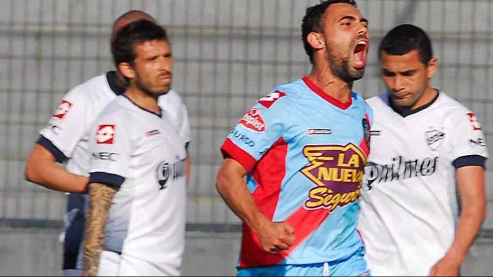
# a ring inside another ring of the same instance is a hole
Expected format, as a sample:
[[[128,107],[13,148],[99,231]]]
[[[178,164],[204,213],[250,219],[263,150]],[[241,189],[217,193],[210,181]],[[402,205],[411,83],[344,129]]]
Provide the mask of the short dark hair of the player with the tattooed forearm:
[[[121,27],[111,43],[113,63],[117,68],[122,62],[133,65],[137,58],[135,46],[153,40],[168,41],[166,29],[146,19],[140,19]]]

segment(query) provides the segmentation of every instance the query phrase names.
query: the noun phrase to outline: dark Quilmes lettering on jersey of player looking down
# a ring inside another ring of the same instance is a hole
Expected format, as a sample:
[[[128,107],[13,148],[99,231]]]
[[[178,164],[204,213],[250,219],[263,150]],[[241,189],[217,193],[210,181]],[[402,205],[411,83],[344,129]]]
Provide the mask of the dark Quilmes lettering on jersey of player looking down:
[[[367,162],[364,168],[363,184],[390,182],[408,178],[433,175],[437,170],[438,158],[405,160],[403,156],[392,158],[390,164]]]

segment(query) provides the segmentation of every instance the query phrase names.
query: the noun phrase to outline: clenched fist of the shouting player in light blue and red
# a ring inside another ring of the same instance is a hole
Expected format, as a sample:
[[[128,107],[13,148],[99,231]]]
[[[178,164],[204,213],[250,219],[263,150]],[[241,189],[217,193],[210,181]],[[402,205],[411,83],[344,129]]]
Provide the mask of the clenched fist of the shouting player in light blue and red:
[[[260,244],[266,252],[278,253],[294,244],[294,228],[285,221],[264,224],[258,235]]]

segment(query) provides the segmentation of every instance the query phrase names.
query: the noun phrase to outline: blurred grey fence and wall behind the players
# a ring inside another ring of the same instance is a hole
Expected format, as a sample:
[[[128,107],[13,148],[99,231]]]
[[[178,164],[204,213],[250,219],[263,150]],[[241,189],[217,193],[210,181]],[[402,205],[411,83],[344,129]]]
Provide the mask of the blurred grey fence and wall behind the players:
[[[310,72],[301,18],[317,0],[0,0],[0,275],[61,274],[63,193],[24,180],[27,155],[63,94],[112,70],[112,21],[141,9],[164,25],[175,58],[173,88],[192,125],[187,247],[183,275],[233,275],[239,221],[214,188],[219,147],[258,97]],[[377,45],[400,23],[432,37],[434,85],[472,109],[493,132],[493,1],[359,0],[371,47],[355,91],[383,91]],[[492,149],[493,147],[490,147]],[[488,163],[491,168],[491,161]],[[493,271],[493,175],[488,219],[463,275]],[[423,249],[423,251],[426,251]]]

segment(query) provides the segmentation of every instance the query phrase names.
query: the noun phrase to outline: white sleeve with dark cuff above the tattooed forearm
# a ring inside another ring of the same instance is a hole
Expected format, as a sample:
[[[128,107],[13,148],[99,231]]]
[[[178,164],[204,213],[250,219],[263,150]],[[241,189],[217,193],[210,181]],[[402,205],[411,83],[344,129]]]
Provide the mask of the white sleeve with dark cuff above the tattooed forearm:
[[[116,115],[101,116],[89,134],[89,183],[119,189],[129,172],[132,152],[130,122]]]

